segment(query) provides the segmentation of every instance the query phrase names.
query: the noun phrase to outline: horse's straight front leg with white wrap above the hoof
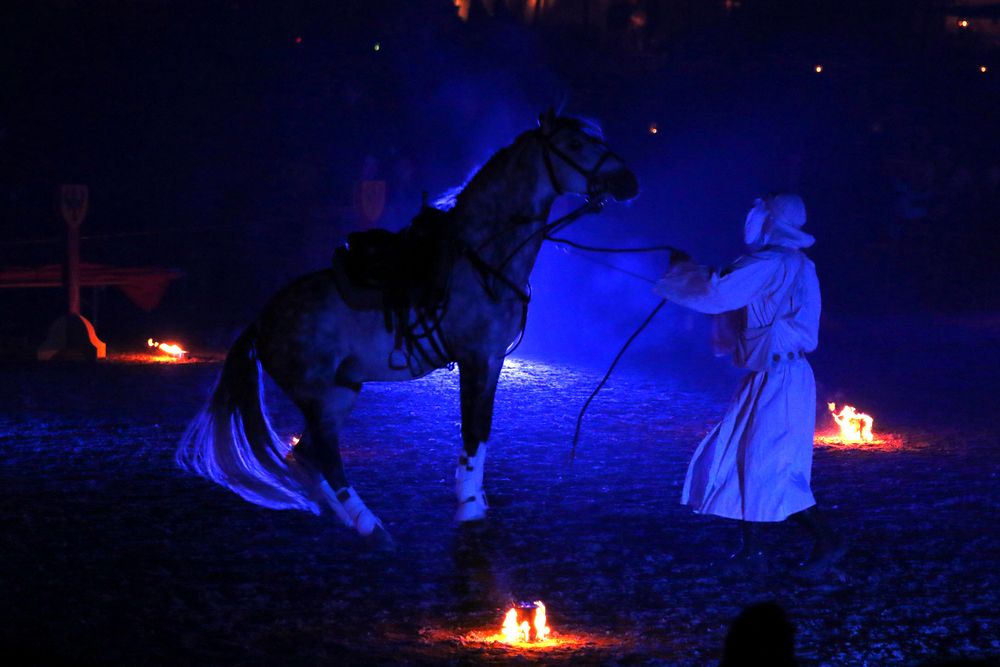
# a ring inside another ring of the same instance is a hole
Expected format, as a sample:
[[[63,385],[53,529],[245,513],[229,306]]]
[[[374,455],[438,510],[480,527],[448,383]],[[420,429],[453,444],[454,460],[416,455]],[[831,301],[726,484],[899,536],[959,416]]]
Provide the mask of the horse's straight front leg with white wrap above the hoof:
[[[459,362],[462,391],[462,455],[455,470],[455,495],[458,499],[456,521],[486,518],[486,494],[483,492],[483,466],[486,464],[486,440],[493,424],[493,399],[503,357],[470,359]]]

